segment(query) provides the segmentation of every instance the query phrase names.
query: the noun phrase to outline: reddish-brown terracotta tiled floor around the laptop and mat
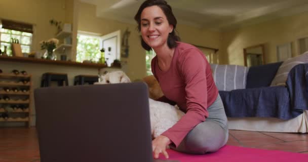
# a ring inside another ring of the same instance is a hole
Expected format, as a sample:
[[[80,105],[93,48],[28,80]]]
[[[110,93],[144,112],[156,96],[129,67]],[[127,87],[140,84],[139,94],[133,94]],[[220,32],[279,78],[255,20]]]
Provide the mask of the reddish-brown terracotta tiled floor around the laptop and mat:
[[[308,154],[308,134],[230,130],[227,144]],[[0,128],[0,161],[40,161],[36,129]]]

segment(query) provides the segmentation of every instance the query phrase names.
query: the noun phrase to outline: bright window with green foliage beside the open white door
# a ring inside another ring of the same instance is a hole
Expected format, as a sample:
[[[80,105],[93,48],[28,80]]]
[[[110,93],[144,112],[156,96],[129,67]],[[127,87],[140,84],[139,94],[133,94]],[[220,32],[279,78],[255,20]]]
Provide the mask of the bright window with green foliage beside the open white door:
[[[90,60],[92,62],[98,62],[101,53],[99,49],[98,37],[77,35],[77,55],[76,61],[83,62],[84,60]]]

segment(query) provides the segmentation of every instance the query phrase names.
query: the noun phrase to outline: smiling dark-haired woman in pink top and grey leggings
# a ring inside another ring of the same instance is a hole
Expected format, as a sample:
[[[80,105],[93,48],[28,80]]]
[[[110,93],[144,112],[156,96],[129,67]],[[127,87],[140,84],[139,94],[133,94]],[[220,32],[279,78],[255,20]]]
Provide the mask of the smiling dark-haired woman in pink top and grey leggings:
[[[163,153],[168,158],[168,145],[185,153],[217,151],[228,139],[227,118],[206,57],[198,48],[178,42],[177,21],[165,1],[145,1],[135,20],[142,47],[156,53],[151,67],[165,94],[160,101],[173,101],[185,112],[152,141],[154,157]]]

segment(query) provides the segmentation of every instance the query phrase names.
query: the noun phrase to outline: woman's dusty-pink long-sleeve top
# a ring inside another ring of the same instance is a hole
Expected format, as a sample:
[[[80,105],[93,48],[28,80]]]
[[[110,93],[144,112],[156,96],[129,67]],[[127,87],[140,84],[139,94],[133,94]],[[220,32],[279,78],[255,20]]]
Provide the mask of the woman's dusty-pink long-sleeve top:
[[[162,135],[177,147],[187,133],[205,121],[209,115],[207,107],[217,98],[211,66],[205,55],[195,46],[178,42],[170,68],[162,71],[157,56],[151,68],[165,97],[174,101],[185,115]]]

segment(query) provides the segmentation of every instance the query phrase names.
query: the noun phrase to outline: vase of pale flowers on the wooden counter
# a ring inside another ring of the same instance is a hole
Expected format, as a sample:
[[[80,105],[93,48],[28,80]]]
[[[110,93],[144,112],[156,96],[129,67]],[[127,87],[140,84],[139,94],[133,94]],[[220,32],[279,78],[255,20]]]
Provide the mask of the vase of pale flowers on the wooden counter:
[[[56,49],[59,40],[56,38],[51,38],[48,41],[40,42],[41,50],[46,49],[46,52],[43,55],[43,58],[48,60],[56,60],[57,55],[54,54],[54,50]]]

